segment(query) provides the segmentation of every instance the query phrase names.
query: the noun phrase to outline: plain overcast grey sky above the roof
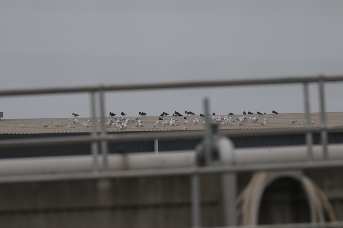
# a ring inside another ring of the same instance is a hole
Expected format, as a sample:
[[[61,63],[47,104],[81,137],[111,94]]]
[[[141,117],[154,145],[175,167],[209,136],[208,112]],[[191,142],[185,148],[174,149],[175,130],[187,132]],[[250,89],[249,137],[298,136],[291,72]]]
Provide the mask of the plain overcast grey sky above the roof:
[[[0,89],[343,73],[343,1],[3,1]],[[343,83],[326,84],[342,111]],[[317,112],[317,86],[310,86]],[[299,85],[106,93],[106,114],[303,112]],[[0,97],[4,118],[90,116],[88,94]],[[99,113],[99,112],[98,112]]]

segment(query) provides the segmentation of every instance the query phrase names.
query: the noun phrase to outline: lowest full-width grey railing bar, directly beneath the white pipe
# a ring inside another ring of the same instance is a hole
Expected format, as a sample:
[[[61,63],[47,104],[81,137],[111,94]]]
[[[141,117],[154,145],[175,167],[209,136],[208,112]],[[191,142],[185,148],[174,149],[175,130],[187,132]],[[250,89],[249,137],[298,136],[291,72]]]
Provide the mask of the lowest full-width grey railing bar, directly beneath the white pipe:
[[[292,169],[318,169],[328,167],[340,167],[343,160],[301,161],[284,163],[259,163],[239,164],[230,166],[207,166],[207,167],[175,167],[164,169],[137,169],[125,171],[102,171],[102,172],[71,172],[56,174],[33,174],[33,175],[7,175],[0,176],[0,183],[57,181],[75,179],[104,179],[104,178],[134,178],[134,177],[157,177],[192,174],[214,173],[237,173],[259,170],[292,170]]]

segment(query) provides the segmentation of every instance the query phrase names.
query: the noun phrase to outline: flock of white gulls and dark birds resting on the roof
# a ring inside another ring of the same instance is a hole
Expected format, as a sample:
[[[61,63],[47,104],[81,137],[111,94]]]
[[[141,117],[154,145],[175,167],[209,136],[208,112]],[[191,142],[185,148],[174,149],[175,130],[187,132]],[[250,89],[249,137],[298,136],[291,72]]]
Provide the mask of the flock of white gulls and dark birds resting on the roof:
[[[261,113],[259,111],[256,112],[257,115],[261,116],[261,115],[264,115],[266,114],[265,112],[264,113]],[[277,113],[276,111],[272,111],[272,113],[275,115],[275,114],[279,114]],[[109,116],[111,117],[106,123],[104,123],[104,125],[106,127],[109,127],[109,126],[115,126],[117,129],[121,129],[121,130],[126,130],[128,125],[129,124],[133,124],[134,122],[137,122],[137,124],[135,124],[136,127],[138,128],[143,128],[144,125],[144,121],[137,118],[137,117],[134,117],[134,118],[125,118],[126,114],[124,112],[121,112],[120,115],[122,117],[117,117],[117,115],[113,112],[110,112],[109,113]],[[139,112],[139,115],[141,117],[144,117],[146,116],[146,113],[145,112]],[[185,116],[186,115],[186,116]],[[189,121],[188,121],[188,116],[194,116],[194,120],[192,121],[192,123],[195,125],[199,122],[199,119],[196,117],[196,114],[191,112],[191,111],[185,111],[185,115],[182,115],[180,114],[179,112],[175,111],[173,113],[173,117],[184,117],[184,121],[183,123],[185,125],[189,124]],[[204,114],[200,114],[200,117],[203,118],[203,121],[202,123],[206,123],[206,117],[207,117],[207,120],[208,121],[212,121],[214,123],[222,123],[222,125],[229,125],[229,126],[232,126],[234,124],[235,121],[237,121],[237,125],[238,126],[243,126],[245,125],[246,122],[248,121],[251,121],[253,123],[257,123],[259,121],[259,118],[257,117],[248,117],[247,115],[255,115],[255,113],[252,113],[250,111],[248,112],[243,112],[243,116],[242,117],[237,117],[236,119],[233,119],[232,116],[234,116],[235,114],[234,113],[228,113],[229,116],[225,116],[225,117],[220,117],[220,116],[215,116],[215,113],[212,113],[212,115],[210,114],[207,114],[207,115],[204,115]],[[76,117],[79,117],[78,114],[76,113],[72,113],[72,116],[75,118],[73,121],[71,119],[69,119],[69,121],[71,122],[71,124],[79,124],[80,122],[76,119]],[[153,124],[153,128],[158,128],[158,126],[161,124],[163,126],[168,126],[168,125],[171,125],[172,127],[173,126],[178,126],[178,124],[180,123],[180,121],[174,119],[174,118],[170,118],[170,121],[168,120],[165,120],[163,121],[163,117],[166,117],[166,116],[169,116],[168,113],[166,112],[163,112],[160,117],[158,118],[158,120],[156,120],[156,122]],[[161,122],[162,121],[162,122]],[[101,120],[99,119],[98,120],[99,123],[101,123]],[[289,121],[290,123],[294,124],[296,123],[297,121],[295,120],[290,120]],[[307,122],[307,120],[305,119],[305,122]],[[83,125],[86,129],[90,128],[91,125],[89,125],[88,123],[92,123],[91,120],[87,120],[87,123],[86,121],[83,122]],[[264,120],[259,124],[261,126],[265,126],[267,124],[267,118],[264,118]],[[311,125],[314,125],[315,123],[313,121],[311,121]],[[20,127],[23,129],[25,128],[26,126],[24,124],[21,124]],[[43,127],[46,129],[48,128],[49,126],[46,125],[45,123],[43,123]],[[62,128],[63,125],[60,125],[58,123],[55,123],[55,127],[56,128]],[[75,126],[73,125],[68,125],[67,128],[75,128]],[[189,128],[187,128],[187,126],[184,126],[183,127],[183,130],[189,130]]]

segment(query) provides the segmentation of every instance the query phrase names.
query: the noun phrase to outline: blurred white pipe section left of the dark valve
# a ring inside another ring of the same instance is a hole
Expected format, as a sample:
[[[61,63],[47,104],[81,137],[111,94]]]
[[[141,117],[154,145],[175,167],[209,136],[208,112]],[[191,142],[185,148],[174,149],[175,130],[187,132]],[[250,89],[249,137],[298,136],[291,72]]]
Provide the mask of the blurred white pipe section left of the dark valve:
[[[94,162],[92,159],[92,156],[3,159],[0,160],[0,176],[91,172]],[[190,151],[159,153],[158,155],[154,153],[135,153],[108,156],[108,170],[161,169],[194,165],[196,165],[196,156],[194,152]],[[103,169],[100,159],[98,167]]]

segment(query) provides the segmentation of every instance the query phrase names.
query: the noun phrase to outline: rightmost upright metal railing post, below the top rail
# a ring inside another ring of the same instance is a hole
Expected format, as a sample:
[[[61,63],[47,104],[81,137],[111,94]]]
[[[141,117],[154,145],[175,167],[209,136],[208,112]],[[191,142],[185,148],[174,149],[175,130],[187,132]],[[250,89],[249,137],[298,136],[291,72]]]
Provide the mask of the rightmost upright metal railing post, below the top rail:
[[[324,104],[324,81],[320,79],[318,81],[319,86],[319,105],[320,105],[320,126],[321,126],[321,144],[323,147],[323,159],[329,159],[328,156],[328,132],[326,129],[326,119],[325,119],[325,104]]]

